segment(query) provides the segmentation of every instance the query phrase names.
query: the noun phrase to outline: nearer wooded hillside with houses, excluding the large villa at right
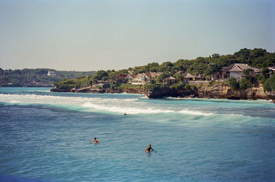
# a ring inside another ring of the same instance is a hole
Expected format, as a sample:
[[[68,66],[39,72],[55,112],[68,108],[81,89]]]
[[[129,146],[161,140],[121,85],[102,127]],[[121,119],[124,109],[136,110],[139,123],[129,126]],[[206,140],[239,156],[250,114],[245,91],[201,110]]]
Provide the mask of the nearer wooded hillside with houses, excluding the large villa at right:
[[[253,67],[253,69],[243,71],[239,80],[235,78],[213,80],[212,75],[214,73],[221,73],[222,68],[229,67],[234,63],[246,65],[246,67],[250,68]],[[147,91],[166,87],[181,89],[192,86],[190,79],[202,80],[201,84],[209,84],[210,86],[215,82],[225,82],[232,87],[232,90],[245,90],[263,84],[267,91],[274,91],[274,76],[270,77],[271,73],[269,70],[274,65],[275,53],[267,52],[265,49],[240,49],[239,52],[228,55],[212,54],[211,56],[198,57],[194,60],[179,59],[176,62],[163,62],[161,65],[157,62],[152,62],[148,63],[148,65],[129,67],[119,71],[100,70],[94,76],[84,76],[83,78],[56,82],[54,91],[70,91],[74,88],[77,90],[85,87],[92,87],[93,89],[102,89],[104,87],[105,90],[113,89],[115,91],[124,90],[125,88],[135,89],[137,85],[134,85],[132,80],[135,80],[135,84],[140,84],[140,87]],[[258,72],[254,73],[256,69],[258,69]],[[192,87],[201,86],[196,83]]]

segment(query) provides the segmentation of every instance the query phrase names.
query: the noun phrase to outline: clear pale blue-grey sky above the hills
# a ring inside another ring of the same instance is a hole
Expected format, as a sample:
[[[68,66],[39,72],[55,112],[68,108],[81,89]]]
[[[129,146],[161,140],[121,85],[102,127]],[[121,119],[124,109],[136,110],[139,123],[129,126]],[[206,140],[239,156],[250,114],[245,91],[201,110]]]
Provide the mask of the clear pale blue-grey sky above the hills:
[[[0,67],[127,69],[275,52],[274,0],[0,0]]]

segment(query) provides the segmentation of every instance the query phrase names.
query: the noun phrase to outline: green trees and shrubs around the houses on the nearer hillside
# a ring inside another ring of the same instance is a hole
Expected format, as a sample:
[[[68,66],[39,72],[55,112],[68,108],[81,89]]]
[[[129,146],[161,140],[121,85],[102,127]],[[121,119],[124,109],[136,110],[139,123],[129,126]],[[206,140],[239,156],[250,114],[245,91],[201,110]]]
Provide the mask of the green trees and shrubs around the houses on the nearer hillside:
[[[119,71],[108,70],[108,71],[97,71],[94,76],[83,76],[77,80],[62,80],[56,82],[54,85],[58,88],[75,88],[75,87],[88,87],[92,84],[102,81],[109,81],[111,89],[118,89],[121,84],[126,84],[124,79],[115,79],[115,76],[119,74],[128,74],[129,71],[133,71],[133,74],[146,73],[146,72],[163,72],[157,78],[151,80],[148,84],[144,84],[142,88],[148,90],[154,90],[159,87],[168,87],[164,83],[164,78],[173,76],[177,80],[173,85],[169,87],[179,89],[184,87],[184,76],[182,73],[188,72],[192,75],[201,74],[207,80],[210,80],[211,75],[219,71],[222,67],[232,65],[233,63],[245,63],[250,67],[255,67],[263,70],[261,76],[256,78],[253,75],[253,70],[248,69],[243,72],[244,77],[241,80],[235,78],[228,79],[228,84],[233,90],[237,89],[248,89],[249,87],[256,86],[259,82],[264,83],[270,79],[270,74],[267,67],[275,65],[275,53],[267,52],[265,49],[240,49],[239,52],[228,55],[212,54],[208,57],[198,57],[193,60],[179,59],[176,62],[163,62],[159,64],[157,62],[148,63],[148,65],[139,67],[129,67],[128,69],[122,69]],[[270,84],[273,82],[268,81],[263,86],[269,90],[272,88]],[[64,86],[63,84],[67,84]],[[210,84],[212,84],[210,82]],[[127,87],[135,87],[129,84]]]

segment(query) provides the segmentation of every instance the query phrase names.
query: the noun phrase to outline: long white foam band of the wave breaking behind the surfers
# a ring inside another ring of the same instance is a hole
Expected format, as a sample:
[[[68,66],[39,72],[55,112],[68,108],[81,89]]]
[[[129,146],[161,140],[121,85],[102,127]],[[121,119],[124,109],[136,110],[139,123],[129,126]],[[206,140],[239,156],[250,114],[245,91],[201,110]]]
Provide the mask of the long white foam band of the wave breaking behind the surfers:
[[[138,102],[137,102],[138,101]],[[190,111],[188,109],[178,111],[173,106],[163,104],[152,104],[151,102],[137,98],[81,98],[64,97],[54,95],[6,95],[0,94],[0,102],[12,104],[50,104],[67,108],[67,106],[83,107],[83,110],[90,112],[109,112],[127,114],[157,114],[157,113],[179,113],[185,115],[212,115],[201,111]]]

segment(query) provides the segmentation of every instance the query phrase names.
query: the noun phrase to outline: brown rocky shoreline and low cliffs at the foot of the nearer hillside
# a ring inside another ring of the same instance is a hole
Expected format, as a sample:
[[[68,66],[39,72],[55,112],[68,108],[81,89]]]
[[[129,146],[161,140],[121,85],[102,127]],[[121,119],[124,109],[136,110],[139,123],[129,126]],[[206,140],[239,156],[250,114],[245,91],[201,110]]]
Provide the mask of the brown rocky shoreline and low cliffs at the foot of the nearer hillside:
[[[273,100],[275,102],[275,93],[263,91],[263,87],[251,87],[244,91],[232,91],[227,84],[219,84],[213,86],[201,86],[197,89],[171,89],[158,88],[154,91],[146,91],[145,89],[94,89],[93,87],[85,87],[81,89],[57,89],[52,88],[54,92],[72,92],[72,93],[140,93],[148,98],[214,98],[214,99],[230,99],[230,100]]]

